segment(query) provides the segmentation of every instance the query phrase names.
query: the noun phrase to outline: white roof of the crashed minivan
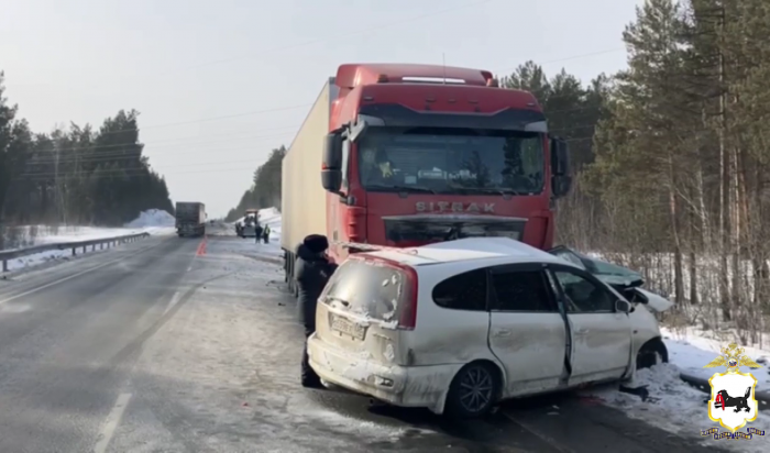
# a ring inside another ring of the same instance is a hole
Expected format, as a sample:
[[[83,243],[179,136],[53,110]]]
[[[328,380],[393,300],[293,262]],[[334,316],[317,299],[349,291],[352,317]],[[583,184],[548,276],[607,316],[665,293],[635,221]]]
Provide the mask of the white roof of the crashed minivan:
[[[413,267],[471,259],[487,259],[496,264],[504,261],[510,264],[556,263],[571,265],[565,259],[509,237],[466,237],[419,247],[367,252],[366,255],[395,261]]]

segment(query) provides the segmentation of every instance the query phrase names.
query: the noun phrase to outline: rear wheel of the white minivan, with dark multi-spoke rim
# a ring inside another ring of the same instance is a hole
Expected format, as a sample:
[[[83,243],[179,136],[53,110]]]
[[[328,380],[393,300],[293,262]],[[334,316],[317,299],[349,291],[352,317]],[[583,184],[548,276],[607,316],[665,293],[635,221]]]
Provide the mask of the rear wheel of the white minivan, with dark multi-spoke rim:
[[[483,417],[497,402],[501,382],[493,365],[473,362],[458,372],[449,386],[444,412],[453,418]]]

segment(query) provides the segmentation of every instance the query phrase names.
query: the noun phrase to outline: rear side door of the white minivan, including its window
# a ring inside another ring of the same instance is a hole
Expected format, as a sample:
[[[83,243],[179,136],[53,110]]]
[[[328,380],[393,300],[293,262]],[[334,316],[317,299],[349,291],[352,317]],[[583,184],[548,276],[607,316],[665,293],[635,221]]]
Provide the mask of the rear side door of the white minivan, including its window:
[[[507,376],[506,396],[566,384],[566,328],[541,264],[490,269],[490,347]]]

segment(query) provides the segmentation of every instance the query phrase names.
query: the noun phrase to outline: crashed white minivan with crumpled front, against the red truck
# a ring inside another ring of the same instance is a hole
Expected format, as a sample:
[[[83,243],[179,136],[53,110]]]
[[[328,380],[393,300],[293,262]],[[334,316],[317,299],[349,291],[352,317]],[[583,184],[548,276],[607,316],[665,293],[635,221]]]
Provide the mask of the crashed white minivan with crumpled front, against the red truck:
[[[563,254],[505,237],[353,254],[319,299],[310,365],[396,406],[479,417],[667,362],[650,310],[670,302]]]

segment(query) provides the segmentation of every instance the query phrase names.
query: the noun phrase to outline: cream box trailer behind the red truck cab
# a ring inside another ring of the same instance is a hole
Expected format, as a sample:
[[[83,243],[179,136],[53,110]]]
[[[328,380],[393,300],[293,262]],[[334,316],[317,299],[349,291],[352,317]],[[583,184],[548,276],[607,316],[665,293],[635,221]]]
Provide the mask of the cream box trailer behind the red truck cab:
[[[280,248],[284,251],[285,279],[295,294],[296,285],[290,277],[294,276],[297,245],[309,234],[326,234],[327,231],[327,192],[321,185],[321,157],[329,133],[331,104],[338,93],[334,77],[330,77],[282,165]]]

